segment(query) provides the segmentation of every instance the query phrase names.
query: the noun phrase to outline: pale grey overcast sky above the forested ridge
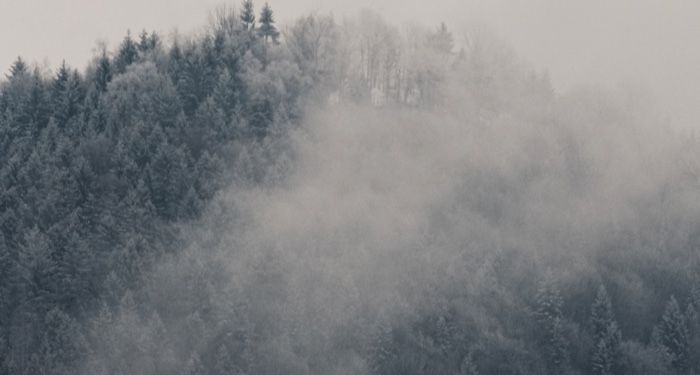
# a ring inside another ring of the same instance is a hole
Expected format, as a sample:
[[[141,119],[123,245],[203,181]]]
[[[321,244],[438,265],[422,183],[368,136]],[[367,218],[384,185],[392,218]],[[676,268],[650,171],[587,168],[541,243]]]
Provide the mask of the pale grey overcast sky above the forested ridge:
[[[240,1],[229,2],[238,5]],[[279,21],[375,9],[397,23],[488,25],[554,85],[636,82],[680,126],[700,128],[698,0],[269,0]],[[201,27],[221,0],[0,0],[0,67],[16,56],[84,67],[95,42],[127,29]]]

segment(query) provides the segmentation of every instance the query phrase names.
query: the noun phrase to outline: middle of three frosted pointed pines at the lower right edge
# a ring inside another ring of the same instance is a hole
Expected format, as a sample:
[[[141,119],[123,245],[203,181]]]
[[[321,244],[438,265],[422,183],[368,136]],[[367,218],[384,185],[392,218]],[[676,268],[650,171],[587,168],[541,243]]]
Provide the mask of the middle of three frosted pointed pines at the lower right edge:
[[[622,336],[612,311],[610,297],[601,285],[591,308],[594,345],[593,373],[611,375],[617,373]]]

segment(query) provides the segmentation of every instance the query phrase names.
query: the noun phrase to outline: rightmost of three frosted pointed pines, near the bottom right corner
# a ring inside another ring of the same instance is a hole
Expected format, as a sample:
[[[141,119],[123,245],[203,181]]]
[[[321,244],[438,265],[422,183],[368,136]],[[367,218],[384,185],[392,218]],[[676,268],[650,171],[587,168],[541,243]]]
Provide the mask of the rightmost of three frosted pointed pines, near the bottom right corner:
[[[690,356],[688,326],[675,297],[666,304],[661,322],[654,330],[654,341],[669,356],[671,365],[679,372],[687,369]]]

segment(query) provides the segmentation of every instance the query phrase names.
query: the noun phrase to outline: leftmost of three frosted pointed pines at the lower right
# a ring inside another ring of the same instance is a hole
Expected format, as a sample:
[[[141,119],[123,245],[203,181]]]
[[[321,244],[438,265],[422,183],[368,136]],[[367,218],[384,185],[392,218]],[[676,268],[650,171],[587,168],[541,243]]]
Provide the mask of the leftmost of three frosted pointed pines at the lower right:
[[[568,341],[564,334],[564,301],[553,277],[547,275],[540,283],[536,296],[535,318],[541,329],[540,343],[544,349],[547,368],[551,374],[561,374],[568,368]]]

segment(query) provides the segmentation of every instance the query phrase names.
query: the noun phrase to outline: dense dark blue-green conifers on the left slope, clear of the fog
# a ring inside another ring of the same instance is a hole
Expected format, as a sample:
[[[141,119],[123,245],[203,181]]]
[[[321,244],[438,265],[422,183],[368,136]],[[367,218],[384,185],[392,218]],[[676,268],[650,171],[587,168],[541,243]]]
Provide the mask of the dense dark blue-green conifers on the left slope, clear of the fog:
[[[270,7],[216,21],[171,45],[127,35],[83,72],[18,58],[0,82],[0,373],[75,373],[100,334],[85,322],[176,248],[173,223],[256,180],[299,115],[296,72],[270,69]]]

